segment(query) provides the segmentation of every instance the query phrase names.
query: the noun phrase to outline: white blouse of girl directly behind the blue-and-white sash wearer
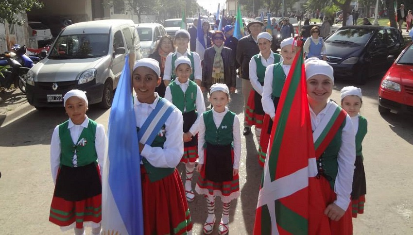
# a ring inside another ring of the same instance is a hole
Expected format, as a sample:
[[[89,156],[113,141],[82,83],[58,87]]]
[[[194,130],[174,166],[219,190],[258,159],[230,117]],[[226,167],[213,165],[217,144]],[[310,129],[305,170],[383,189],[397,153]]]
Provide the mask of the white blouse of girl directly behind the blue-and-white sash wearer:
[[[176,83],[177,85],[179,85],[179,87],[181,87],[184,93],[187,91],[188,86],[189,86],[189,80],[186,83],[181,83],[178,81],[178,79],[175,79],[172,83]],[[169,86],[167,86],[165,90],[165,99],[167,99],[168,101],[172,103],[171,87]],[[206,108],[205,108],[205,102],[204,102],[204,95],[202,94],[201,88],[198,85],[196,86],[195,105],[196,105],[196,111],[198,112],[197,119],[199,119],[201,114],[206,111]],[[184,108],[184,111],[186,111],[186,107]],[[192,135],[195,135],[198,133],[198,123],[196,121],[192,124],[191,128],[189,128],[189,132]]]

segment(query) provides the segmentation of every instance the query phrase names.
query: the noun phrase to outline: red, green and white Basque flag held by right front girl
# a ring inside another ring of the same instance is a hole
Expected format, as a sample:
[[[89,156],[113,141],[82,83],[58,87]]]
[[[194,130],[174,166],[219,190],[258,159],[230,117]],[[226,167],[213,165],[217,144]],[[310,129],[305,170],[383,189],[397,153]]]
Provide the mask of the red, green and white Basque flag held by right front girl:
[[[297,50],[275,113],[254,235],[318,235],[323,234],[322,226],[328,226],[328,218],[323,216],[326,205],[315,178],[303,50]]]

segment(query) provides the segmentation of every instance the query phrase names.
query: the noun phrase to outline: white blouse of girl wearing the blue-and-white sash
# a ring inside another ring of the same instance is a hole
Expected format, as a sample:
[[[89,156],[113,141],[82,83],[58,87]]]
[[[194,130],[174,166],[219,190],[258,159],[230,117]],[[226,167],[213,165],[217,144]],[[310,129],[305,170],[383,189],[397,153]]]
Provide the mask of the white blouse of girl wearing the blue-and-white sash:
[[[155,110],[158,99],[156,98],[151,104],[139,102],[136,96],[134,96],[133,99],[136,126],[140,128],[152,111]],[[184,154],[184,139],[182,136],[183,125],[184,120],[182,113],[179,109],[175,108],[165,122],[165,132],[159,132],[160,135],[166,136],[163,149],[161,147],[151,147],[150,145],[145,144],[140,155],[145,157],[154,167],[175,168]]]

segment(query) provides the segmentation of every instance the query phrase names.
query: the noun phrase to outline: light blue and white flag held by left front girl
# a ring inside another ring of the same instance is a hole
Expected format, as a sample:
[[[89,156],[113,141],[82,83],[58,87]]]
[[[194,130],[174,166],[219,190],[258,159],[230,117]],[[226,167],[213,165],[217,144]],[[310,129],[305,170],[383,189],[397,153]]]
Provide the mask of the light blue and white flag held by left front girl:
[[[102,176],[102,234],[143,235],[142,189],[129,55],[109,116]]]

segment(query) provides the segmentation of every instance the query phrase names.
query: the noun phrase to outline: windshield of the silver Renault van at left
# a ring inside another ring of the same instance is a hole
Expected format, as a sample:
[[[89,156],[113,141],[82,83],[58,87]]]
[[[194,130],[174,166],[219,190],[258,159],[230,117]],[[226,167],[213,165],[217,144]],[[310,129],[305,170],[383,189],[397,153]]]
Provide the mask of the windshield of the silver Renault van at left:
[[[107,55],[109,34],[61,35],[53,45],[49,59],[84,59]]]

